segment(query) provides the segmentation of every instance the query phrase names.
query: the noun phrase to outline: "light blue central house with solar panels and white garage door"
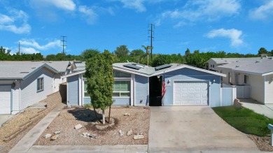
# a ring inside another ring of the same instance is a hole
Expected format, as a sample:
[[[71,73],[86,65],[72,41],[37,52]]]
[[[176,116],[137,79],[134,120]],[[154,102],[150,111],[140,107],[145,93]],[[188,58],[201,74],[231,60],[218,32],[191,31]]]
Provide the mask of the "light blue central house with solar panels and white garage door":
[[[90,103],[85,71],[67,78],[68,105]],[[165,75],[165,80],[162,80]],[[114,105],[221,105],[220,78],[225,74],[184,64],[148,67],[134,63],[113,64]],[[167,92],[161,101],[162,82]]]

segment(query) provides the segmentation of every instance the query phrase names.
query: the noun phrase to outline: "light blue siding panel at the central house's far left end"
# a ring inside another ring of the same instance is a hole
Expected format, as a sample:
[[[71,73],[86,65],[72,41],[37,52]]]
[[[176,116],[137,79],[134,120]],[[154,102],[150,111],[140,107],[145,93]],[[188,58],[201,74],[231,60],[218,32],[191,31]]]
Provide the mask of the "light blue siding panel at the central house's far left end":
[[[79,105],[79,75],[73,75],[67,78],[67,102],[70,105]]]

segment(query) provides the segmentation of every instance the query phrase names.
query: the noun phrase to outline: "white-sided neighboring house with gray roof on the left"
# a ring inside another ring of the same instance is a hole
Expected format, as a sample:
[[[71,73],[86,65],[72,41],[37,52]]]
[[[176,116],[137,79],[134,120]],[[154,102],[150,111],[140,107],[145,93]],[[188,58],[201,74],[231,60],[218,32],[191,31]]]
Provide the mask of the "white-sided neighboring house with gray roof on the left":
[[[62,75],[74,68],[70,61],[0,61],[0,114],[16,114],[59,91]]]

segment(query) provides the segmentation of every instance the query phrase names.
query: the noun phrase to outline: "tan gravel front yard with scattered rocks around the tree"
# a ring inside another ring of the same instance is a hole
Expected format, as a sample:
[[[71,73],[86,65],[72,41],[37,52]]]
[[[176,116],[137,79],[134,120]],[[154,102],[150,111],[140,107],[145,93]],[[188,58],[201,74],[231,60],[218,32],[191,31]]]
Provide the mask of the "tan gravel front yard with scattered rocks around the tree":
[[[100,113],[101,111],[99,111]],[[106,110],[106,117],[109,110]],[[130,113],[130,116],[125,116]],[[100,117],[100,116],[99,116]],[[111,108],[111,118],[115,125],[99,130],[92,122],[95,121],[94,111],[90,108],[64,109],[53,122],[45,129],[34,145],[146,145],[148,144],[148,130],[150,108],[130,107]],[[81,124],[81,129],[74,126]],[[110,123],[111,124],[111,123]],[[126,136],[127,131],[132,129],[133,134]],[[61,131],[57,140],[44,138],[47,133]],[[123,136],[120,136],[122,131]],[[83,137],[83,133],[97,134],[97,139]],[[134,134],[142,133],[143,139],[134,140]]]

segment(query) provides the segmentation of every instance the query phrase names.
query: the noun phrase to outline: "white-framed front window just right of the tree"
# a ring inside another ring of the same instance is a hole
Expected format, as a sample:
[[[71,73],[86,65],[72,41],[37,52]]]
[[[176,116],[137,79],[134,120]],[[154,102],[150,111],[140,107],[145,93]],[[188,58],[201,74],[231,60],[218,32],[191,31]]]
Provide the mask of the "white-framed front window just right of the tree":
[[[130,97],[130,81],[114,81],[113,96]]]

